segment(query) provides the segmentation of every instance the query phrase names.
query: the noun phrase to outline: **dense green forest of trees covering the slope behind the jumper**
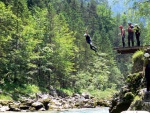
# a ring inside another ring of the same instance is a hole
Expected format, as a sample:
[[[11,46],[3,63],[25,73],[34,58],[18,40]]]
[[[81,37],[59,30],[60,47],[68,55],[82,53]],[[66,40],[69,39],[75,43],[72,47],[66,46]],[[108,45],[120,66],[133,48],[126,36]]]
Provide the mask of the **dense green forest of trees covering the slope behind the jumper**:
[[[119,90],[132,72],[133,55],[113,49],[122,46],[119,26],[138,24],[141,45],[150,43],[150,2],[124,5],[113,15],[108,0],[0,0],[0,90],[53,87],[102,98]],[[99,55],[86,43],[85,29]],[[125,40],[127,45],[127,32]]]

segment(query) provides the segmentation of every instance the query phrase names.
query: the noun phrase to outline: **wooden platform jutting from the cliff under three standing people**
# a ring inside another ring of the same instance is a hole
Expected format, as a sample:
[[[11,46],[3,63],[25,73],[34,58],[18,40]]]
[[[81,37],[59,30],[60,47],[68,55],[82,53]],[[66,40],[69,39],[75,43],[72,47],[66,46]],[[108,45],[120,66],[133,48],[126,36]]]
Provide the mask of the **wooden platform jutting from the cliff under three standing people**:
[[[147,48],[150,48],[150,45],[134,46],[134,47],[115,47],[114,50],[116,50],[120,54],[130,54],[135,53],[138,50],[144,50]]]

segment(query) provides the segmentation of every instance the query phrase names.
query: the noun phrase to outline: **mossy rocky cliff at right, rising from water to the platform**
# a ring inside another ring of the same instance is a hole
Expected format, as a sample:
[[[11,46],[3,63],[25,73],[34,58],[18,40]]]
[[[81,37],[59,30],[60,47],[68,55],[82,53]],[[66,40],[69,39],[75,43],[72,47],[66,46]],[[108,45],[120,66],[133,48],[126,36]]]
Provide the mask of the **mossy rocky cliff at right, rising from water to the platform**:
[[[150,92],[146,92],[146,81],[141,72],[143,53],[137,53],[133,59],[132,74],[125,79],[125,86],[113,96],[110,113],[136,110],[150,112]]]

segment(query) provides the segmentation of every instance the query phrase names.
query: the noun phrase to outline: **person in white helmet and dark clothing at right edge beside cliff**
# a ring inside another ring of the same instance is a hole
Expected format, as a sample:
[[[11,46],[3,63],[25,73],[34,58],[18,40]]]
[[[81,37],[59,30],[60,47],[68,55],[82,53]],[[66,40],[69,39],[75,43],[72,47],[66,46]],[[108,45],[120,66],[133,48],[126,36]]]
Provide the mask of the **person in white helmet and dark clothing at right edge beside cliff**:
[[[144,64],[143,64],[143,76],[146,79],[147,92],[150,91],[150,54],[146,52],[144,54]]]

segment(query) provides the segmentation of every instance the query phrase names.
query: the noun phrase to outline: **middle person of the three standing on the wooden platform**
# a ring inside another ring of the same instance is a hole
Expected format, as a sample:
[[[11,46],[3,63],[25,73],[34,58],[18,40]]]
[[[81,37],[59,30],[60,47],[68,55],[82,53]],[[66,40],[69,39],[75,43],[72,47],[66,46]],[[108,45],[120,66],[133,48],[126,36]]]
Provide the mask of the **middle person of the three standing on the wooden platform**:
[[[134,46],[134,30],[133,25],[128,23],[128,47],[130,47],[130,41],[132,42],[132,47]]]

